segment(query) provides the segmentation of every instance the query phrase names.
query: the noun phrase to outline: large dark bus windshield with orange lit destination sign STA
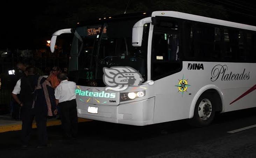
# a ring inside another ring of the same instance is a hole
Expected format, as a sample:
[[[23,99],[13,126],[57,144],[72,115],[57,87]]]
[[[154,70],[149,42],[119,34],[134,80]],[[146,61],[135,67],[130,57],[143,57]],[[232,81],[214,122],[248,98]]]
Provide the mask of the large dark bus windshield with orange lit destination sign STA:
[[[69,71],[70,74],[76,73],[78,85],[91,86],[88,83],[97,81],[97,86],[105,87],[102,81],[103,67],[112,66],[133,67],[147,80],[150,25],[144,25],[142,46],[133,47],[132,28],[136,22],[137,20],[108,22],[76,28],[71,58],[77,56],[78,60],[70,60]]]

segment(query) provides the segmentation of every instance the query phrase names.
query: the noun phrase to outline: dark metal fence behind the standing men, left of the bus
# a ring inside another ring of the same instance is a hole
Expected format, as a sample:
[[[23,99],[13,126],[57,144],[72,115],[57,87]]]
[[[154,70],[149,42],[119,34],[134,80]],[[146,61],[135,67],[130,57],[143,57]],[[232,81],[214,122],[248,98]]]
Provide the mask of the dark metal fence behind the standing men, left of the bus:
[[[56,50],[51,53],[48,49],[35,50],[0,50],[0,105],[9,105],[11,101],[11,93],[16,84],[17,79],[13,79],[8,75],[9,70],[13,70],[17,62],[27,62],[36,67],[37,73],[40,75],[49,75],[46,70],[51,70],[53,66],[61,68],[67,67],[69,61],[69,50]],[[49,68],[49,69],[48,69]]]

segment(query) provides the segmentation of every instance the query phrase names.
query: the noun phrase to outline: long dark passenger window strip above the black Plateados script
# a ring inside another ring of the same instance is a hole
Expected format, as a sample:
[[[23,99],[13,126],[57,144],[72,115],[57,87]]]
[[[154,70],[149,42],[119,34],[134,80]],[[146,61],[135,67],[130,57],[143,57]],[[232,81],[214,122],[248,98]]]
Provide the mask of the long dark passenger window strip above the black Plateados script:
[[[256,62],[256,34],[201,22],[183,22],[185,61]]]

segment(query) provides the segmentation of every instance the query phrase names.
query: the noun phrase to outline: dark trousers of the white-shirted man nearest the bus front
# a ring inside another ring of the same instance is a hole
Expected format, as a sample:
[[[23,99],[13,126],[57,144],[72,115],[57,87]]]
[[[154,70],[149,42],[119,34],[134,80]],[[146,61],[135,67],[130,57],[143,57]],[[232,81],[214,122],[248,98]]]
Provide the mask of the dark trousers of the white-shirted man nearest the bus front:
[[[76,99],[64,101],[58,104],[60,109],[61,124],[64,137],[76,137],[77,135],[77,102]]]

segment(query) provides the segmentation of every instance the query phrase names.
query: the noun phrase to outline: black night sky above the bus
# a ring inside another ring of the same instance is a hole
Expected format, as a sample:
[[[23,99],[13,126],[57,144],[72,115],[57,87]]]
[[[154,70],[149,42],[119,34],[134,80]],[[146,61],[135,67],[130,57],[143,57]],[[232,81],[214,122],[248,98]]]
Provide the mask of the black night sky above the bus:
[[[1,2],[0,49],[42,47],[56,30],[79,21],[122,14],[128,0]],[[130,0],[127,12],[174,10],[256,26],[252,0]]]

